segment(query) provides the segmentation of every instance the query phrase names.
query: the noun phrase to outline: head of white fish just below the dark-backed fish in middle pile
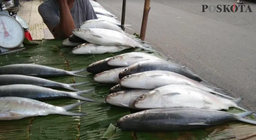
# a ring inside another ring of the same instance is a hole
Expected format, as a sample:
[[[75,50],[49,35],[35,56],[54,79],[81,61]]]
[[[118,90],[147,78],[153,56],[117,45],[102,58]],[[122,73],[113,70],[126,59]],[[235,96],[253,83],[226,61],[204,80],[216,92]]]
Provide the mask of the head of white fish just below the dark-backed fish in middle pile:
[[[132,75],[127,75],[125,77],[123,77],[119,83],[120,85],[124,86],[124,87],[140,87],[142,89],[145,88],[146,86],[146,75],[142,72],[140,73],[135,73]]]

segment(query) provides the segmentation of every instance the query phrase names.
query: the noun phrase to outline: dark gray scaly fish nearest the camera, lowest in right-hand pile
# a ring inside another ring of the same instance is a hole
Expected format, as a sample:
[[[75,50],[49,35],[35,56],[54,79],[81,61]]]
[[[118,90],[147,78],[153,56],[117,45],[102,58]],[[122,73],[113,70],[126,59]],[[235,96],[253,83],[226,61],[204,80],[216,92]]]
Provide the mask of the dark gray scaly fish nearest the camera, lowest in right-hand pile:
[[[123,131],[173,132],[188,131],[221,125],[229,121],[256,124],[255,120],[244,119],[252,111],[229,113],[196,108],[150,109],[128,114],[117,120],[117,127]]]

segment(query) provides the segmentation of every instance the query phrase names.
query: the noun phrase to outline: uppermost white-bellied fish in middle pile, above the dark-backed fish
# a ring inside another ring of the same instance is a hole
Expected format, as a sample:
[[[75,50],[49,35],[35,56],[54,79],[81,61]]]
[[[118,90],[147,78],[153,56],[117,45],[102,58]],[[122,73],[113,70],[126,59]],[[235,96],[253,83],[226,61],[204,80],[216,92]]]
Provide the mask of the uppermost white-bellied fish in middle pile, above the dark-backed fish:
[[[146,52],[128,52],[112,57],[109,61],[107,61],[107,64],[111,66],[130,66],[134,63],[149,59],[162,58],[159,58],[158,56],[152,54],[148,54]]]

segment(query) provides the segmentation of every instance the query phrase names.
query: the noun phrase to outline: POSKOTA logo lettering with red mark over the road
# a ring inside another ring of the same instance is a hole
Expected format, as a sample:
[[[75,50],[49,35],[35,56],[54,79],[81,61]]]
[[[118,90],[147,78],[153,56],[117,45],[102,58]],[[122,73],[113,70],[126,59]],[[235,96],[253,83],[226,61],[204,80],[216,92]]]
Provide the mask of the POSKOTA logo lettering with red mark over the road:
[[[202,5],[202,12],[252,12],[250,5]]]

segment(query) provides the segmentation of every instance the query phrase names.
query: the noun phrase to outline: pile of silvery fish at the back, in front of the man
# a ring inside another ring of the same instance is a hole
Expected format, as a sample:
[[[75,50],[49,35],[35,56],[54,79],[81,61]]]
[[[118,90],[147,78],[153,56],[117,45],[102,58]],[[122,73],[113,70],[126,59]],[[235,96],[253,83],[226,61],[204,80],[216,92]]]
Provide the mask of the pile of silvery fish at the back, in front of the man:
[[[98,19],[88,20],[73,29],[69,38],[63,41],[63,45],[72,46],[73,54],[104,54],[120,52],[130,48],[142,48],[149,51],[149,45],[129,34],[126,34],[119,26],[116,16],[102,8],[97,2],[91,1]],[[126,28],[130,25],[125,25]]]

